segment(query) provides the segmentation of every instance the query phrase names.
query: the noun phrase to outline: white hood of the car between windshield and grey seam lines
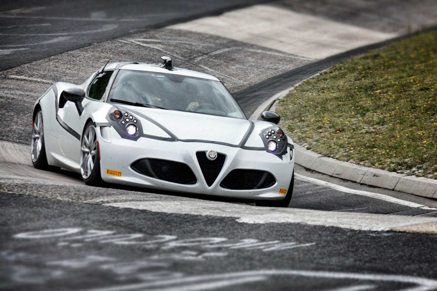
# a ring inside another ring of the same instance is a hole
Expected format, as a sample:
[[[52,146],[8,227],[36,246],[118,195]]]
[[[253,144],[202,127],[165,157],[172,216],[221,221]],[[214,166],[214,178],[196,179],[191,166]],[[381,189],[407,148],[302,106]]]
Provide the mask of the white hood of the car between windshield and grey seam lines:
[[[237,145],[252,126],[249,120],[201,113],[139,107],[129,111],[140,113],[137,117],[142,120],[144,134],[148,134],[147,124],[154,123],[179,140],[208,140]]]

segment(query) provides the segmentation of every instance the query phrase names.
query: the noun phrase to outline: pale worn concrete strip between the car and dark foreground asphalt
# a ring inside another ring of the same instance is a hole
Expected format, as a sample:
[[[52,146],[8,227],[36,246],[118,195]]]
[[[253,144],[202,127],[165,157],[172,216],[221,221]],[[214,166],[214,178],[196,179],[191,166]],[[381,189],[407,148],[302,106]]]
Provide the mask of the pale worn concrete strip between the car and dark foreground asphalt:
[[[232,217],[240,223],[303,223],[356,230],[382,231],[395,229],[400,226],[435,223],[437,221],[437,218],[434,217],[390,216],[360,212],[256,207],[208,200],[112,202],[115,199],[114,196],[108,196],[110,202],[105,203],[104,199],[104,197],[99,197],[99,202],[102,203],[102,205],[162,213]],[[292,203],[293,202],[291,202],[291,205]]]

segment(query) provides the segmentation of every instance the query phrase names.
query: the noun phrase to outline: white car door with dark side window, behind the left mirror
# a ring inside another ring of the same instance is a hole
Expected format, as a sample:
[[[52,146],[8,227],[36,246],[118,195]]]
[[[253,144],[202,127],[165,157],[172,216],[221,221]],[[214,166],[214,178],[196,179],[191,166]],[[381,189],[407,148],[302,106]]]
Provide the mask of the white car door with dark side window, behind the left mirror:
[[[106,90],[109,90],[108,83],[113,72],[114,71],[102,72],[92,79],[87,86],[85,98],[83,98],[82,101],[82,114],[79,114],[76,104],[70,101],[66,101],[65,105],[58,110],[58,118],[70,129],[63,132],[59,143],[62,152],[74,161],[80,161],[80,137],[82,135],[83,126],[85,125],[85,119],[89,116],[87,114],[87,108],[91,103],[101,101]]]

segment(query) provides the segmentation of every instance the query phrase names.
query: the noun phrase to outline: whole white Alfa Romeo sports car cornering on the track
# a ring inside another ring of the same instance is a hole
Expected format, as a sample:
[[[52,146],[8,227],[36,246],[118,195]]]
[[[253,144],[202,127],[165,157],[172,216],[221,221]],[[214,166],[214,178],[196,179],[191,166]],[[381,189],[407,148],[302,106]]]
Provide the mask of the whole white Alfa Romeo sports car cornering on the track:
[[[214,76],[162,64],[114,62],[82,85],[57,82],[35,103],[35,168],[104,182],[255,199],[288,207],[294,146],[266,111],[247,120]]]

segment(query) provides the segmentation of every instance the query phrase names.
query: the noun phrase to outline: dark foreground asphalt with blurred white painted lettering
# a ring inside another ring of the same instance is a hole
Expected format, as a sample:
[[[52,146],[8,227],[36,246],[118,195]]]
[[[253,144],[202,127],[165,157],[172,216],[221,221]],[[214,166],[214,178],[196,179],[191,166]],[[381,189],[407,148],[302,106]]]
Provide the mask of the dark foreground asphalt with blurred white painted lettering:
[[[1,290],[435,290],[437,236],[0,194]],[[342,289],[344,288],[344,289]],[[415,289],[417,288],[417,289]]]

